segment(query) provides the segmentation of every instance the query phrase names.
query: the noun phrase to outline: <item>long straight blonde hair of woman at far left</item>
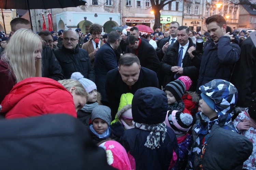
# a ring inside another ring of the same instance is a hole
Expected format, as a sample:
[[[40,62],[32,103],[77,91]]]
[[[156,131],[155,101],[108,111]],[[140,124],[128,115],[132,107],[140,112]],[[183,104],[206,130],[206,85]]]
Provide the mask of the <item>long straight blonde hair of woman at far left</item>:
[[[43,42],[40,36],[28,29],[17,30],[9,40],[2,60],[9,64],[16,83],[29,77],[42,77],[41,59],[34,57],[40,42]]]

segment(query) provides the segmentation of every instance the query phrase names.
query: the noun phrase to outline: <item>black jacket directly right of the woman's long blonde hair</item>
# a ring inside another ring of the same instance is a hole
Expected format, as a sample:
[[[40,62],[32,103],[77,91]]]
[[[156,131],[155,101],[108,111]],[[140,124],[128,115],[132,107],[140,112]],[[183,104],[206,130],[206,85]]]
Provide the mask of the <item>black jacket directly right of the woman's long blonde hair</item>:
[[[62,69],[51,48],[43,46],[42,50],[42,77],[53,80],[65,79]]]

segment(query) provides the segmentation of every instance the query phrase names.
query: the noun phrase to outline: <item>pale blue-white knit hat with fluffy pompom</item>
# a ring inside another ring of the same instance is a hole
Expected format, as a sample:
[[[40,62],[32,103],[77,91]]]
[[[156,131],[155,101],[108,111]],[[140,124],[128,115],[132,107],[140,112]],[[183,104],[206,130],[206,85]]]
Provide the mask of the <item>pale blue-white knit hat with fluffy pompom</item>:
[[[97,90],[96,84],[93,81],[84,78],[84,76],[80,72],[72,73],[70,79],[79,81],[88,93],[93,91],[94,89]]]

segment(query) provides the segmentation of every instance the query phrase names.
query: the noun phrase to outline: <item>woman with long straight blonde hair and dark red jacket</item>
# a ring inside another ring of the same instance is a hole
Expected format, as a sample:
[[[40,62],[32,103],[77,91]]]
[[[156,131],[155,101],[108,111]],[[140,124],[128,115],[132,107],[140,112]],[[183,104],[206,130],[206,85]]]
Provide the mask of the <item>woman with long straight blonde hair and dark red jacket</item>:
[[[16,31],[0,61],[0,103],[13,86],[29,77],[41,77],[42,39],[31,30]]]

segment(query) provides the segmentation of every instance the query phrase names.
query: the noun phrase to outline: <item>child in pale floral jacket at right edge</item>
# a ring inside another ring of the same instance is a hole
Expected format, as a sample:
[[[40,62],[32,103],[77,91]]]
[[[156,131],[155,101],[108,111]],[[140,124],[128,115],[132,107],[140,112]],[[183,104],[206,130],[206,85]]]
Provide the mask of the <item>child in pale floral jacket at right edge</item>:
[[[247,108],[240,109],[240,113],[234,119],[234,126],[238,133],[247,137],[253,143],[253,152],[251,156],[243,163],[243,169],[255,169],[256,166],[256,93],[252,94],[252,98]]]

